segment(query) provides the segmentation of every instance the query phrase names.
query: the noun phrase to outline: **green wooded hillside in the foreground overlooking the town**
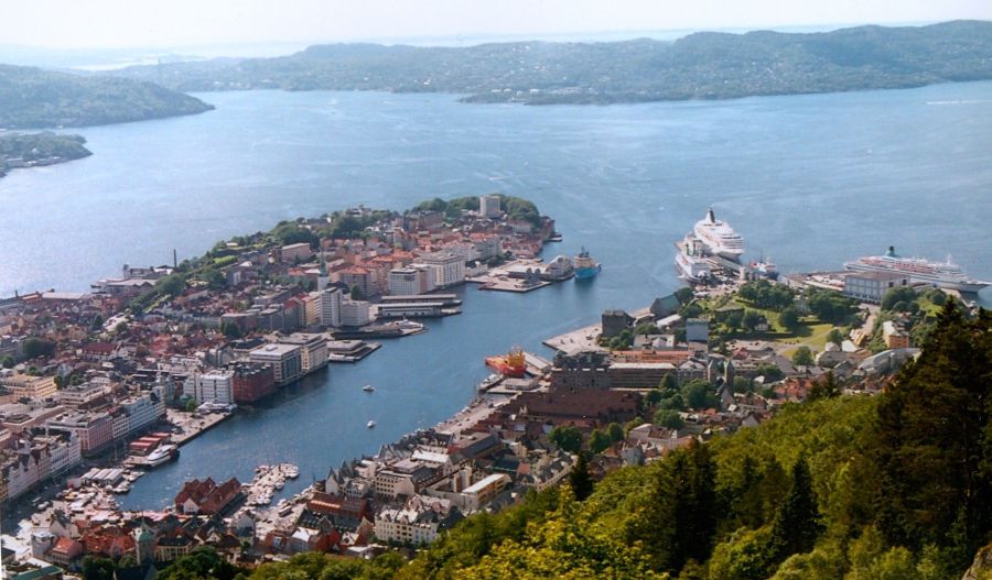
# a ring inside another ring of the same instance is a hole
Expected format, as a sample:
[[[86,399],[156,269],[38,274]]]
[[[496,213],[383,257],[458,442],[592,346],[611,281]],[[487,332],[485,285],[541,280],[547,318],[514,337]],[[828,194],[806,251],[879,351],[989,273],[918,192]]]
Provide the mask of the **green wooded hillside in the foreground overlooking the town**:
[[[876,397],[787,406],[615,471],[584,501],[568,485],[532,493],[410,563],[312,552],[251,577],[961,578],[992,540],[990,395],[992,316],[967,320],[950,300],[919,360]]]

